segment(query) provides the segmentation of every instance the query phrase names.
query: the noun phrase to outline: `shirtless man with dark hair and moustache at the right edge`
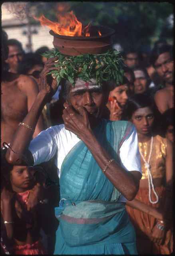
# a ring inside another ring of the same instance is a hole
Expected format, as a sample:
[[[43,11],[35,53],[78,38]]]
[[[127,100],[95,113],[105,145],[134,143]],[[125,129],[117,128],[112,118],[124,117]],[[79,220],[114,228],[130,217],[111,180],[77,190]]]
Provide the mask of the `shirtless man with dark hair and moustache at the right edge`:
[[[151,53],[150,63],[153,65],[157,74],[163,79],[165,88],[156,92],[154,100],[161,114],[169,108],[173,108],[174,76],[173,76],[173,55],[172,47],[164,44],[157,46]]]

